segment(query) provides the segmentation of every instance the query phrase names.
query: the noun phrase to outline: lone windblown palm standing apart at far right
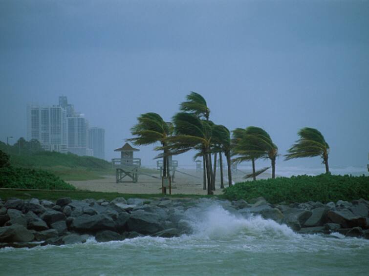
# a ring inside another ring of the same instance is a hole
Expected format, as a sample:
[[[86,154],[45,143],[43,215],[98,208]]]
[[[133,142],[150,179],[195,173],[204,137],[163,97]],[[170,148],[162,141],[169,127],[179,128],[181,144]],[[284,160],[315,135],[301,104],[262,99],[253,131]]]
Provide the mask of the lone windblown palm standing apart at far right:
[[[326,165],[326,174],[328,174],[329,145],[326,143],[324,136],[317,129],[310,127],[300,129],[298,135],[300,139],[288,150],[285,160],[320,156]]]

